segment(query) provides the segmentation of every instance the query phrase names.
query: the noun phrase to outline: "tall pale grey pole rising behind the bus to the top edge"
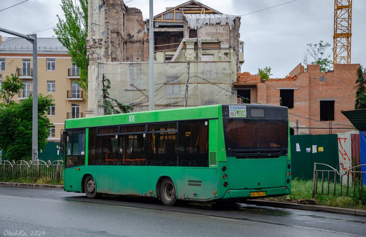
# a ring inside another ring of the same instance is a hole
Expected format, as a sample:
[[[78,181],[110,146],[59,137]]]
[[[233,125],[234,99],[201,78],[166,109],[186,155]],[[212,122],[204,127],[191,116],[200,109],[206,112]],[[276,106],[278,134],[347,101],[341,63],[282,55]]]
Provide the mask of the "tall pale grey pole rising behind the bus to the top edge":
[[[149,18],[149,110],[155,110],[154,105],[154,19],[153,19],[153,0],[150,0]]]

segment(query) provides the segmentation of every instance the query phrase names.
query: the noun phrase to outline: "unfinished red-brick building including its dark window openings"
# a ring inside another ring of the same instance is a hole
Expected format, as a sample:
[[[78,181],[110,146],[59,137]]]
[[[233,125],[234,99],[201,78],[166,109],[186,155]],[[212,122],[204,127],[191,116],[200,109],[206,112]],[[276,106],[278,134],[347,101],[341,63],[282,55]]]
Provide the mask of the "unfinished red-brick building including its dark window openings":
[[[245,103],[288,107],[291,135],[349,132],[352,124],[341,111],[354,109],[358,67],[359,64],[335,64],[334,70],[320,73],[320,65],[307,65],[305,72],[300,63],[288,77],[269,81],[244,72],[238,74],[233,88],[239,96],[249,99]],[[346,127],[349,129],[343,129]]]

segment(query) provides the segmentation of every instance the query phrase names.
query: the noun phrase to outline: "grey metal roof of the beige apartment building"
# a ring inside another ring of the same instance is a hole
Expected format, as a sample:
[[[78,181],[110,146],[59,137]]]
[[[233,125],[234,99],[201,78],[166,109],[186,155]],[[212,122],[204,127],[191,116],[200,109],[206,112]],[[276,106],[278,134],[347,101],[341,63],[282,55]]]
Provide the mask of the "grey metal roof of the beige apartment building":
[[[33,44],[20,37],[8,37],[0,44],[0,51],[33,51]],[[37,51],[67,51],[57,38],[37,38]]]

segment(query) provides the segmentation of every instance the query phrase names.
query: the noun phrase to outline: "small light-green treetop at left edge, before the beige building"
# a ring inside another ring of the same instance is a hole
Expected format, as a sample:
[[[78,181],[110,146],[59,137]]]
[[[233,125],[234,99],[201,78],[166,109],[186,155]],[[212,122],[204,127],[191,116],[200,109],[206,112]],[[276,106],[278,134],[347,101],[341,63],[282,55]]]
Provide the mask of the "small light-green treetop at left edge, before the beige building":
[[[1,79],[3,78],[1,77]],[[0,99],[4,101],[1,104],[8,107],[10,104],[15,103],[12,99],[18,94],[19,90],[21,90],[23,86],[23,82],[14,74],[11,73],[10,77],[5,76],[5,81],[1,81],[0,88]]]

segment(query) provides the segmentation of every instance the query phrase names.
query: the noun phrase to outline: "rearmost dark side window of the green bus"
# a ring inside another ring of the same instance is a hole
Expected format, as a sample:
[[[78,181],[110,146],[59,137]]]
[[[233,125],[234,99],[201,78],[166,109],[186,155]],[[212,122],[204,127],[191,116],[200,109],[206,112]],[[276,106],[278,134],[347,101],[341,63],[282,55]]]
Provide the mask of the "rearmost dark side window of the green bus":
[[[209,166],[208,130],[208,121],[179,122],[178,166]]]

